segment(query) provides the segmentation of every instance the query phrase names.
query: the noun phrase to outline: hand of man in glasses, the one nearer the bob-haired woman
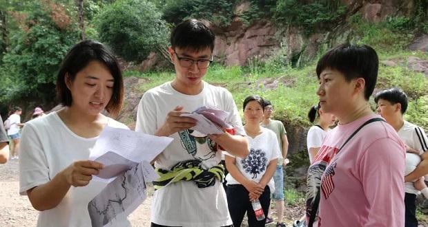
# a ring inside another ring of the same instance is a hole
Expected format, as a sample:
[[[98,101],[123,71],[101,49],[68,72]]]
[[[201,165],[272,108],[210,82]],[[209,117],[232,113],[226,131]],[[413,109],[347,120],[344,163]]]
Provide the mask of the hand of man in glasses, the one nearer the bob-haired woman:
[[[182,111],[183,107],[175,107],[175,109],[168,113],[164,125],[157,129],[155,136],[170,136],[177,131],[190,129],[196,125],[196,120],[189,117],[181,117],[181,114],[186,112]]]

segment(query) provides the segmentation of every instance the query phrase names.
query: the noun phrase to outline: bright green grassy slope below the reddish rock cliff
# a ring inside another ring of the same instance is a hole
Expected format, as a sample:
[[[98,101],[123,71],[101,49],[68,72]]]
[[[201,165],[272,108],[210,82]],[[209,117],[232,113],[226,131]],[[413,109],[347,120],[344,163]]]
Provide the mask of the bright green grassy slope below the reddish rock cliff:
[[[428,54],[421,52],[394,52],[385,55],[380,60],[400,58],[402,64],[396,67],[387,67],[380,64],[378,89],[400,87],[409,95],[409,109],[406,119],[420,125],[428,131],[428,97],[425,95],[428,79],[425,75],[408,69],[405,62],[408,56],[418,56],[428,59]],[[233,94],[237,109],[242,114],[242,102],[246,96],[257,94],[271,100],[275,106],[275,119],[293,122],[294,125],[308,126],[307,111],[318,102],[316,91],[318,78],[315,74],[315,62],[306,67],[295,69],[282,67],[281,70],[269,64],[258,61],[252,67],[224,67],[213,64],[208,69],[204,80],[214,85],[226,87]],[[138,87],[144,92],[152,87],[173,80],[175,73],[166,72],[138,72],[128,70],[124,76],[145,78],[146,82]],[[275,85],[271,86],[270,83]]]

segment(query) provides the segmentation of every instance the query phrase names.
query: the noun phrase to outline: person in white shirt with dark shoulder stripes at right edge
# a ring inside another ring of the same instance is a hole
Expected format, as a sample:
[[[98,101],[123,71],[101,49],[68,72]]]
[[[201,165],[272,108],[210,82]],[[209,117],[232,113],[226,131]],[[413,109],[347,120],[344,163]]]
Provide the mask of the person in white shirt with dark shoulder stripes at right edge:
[[[406,169],[411,168],[411,175],[414,172],[420,177],[421,175],[427,175],[428,169],[421,171],[418,169],[418,163],[414,164],[411,160],[416,155],[416,161],[428,160],[428,139],[425,131],[414,125],[407,120],[404,120],[404,114],[407,110],[407,96],[402,89],[393,87],[379,91],[375,96],[375,102],[378,105],[378,113],[380,116],[385,118],[389,125],[391,125],[398,133],[398,136],[406,145]],[[417,156],[420,155],[420,158]],[[416,168],[416,169],[415,169]],[[419,171],[419,173],[418,173]],[[419,175],[420,174],[420,175]],[[414,183],[409,181],[405,183],[405,226],[406,227],[417,227],[418,219],[416,219],[416,196],[419,191],[414,187]]]

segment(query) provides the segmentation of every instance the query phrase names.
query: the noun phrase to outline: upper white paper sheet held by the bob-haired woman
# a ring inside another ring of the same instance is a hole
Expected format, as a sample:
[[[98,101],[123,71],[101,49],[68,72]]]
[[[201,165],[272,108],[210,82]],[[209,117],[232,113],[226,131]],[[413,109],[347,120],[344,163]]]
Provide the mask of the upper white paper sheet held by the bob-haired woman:
[[[172,141],[173,138],[169,137],[106,126],[89,155],[89,160],[104,164],[104,169],[93,180],[110,182],[113,177],[139,162],[150,162]]]

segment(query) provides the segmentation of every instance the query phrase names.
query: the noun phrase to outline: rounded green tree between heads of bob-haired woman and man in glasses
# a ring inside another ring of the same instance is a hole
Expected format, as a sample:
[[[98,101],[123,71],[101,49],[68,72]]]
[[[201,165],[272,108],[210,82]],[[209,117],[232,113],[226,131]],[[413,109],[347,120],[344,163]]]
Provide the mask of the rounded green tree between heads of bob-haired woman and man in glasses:
[[[161,13],[145,0],[123,0],[106,6],[96,17],[99,39],[126,61],[139,62],[168,43]]]

